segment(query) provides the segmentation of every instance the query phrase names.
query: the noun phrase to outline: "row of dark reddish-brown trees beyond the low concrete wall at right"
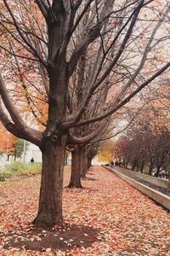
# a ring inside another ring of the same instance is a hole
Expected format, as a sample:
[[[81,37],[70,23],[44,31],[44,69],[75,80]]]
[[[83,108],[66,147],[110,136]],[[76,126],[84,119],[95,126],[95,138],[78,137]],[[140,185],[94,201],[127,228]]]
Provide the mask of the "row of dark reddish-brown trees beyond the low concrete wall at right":
[[[114,155],[122,167],[159,176],[170,172],[169,116],[165,109],[144,109],[116,141]]]

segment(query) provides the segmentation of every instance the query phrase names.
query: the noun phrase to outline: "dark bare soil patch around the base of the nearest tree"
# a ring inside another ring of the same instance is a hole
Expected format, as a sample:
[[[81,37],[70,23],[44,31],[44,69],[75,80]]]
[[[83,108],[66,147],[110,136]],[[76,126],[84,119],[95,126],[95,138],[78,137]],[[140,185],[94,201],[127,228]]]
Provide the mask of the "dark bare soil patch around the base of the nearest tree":
[[[69,251],[73,247],[91,247],[94,241],[98,241],[99,230],[94,230],[88,226],[66,227],[61,230],[29,230],[22,236],[8,234],[10,239],[4,248],[11,247],[23,248],[39,252],[51,248],[52,251]]]

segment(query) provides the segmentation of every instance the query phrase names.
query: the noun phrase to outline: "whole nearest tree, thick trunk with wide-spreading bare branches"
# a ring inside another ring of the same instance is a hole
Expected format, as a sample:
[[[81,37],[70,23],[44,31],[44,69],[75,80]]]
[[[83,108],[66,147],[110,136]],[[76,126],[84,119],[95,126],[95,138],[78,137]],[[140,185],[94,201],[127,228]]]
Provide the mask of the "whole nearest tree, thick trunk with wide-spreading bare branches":
[[[43,117],[37,96],[42,95],[48,105],[47,122],[43,121],[44,131],[26,125],[20,108],[15,107],[8,95],[4,82],[8,81],[8,66],[3,67],[3,78],[0,77],[4,105],[0,107],[1,122],[14,136],[34,143],[42,150],[39,209],[33,222],[36,227],[63,224],[62,183],[66,145],[90,141],[98,130],[95,122],[102,123],[103,119],[116,113],[170,66],[170,62],[165,64],[167,60],[155,58],[154,67],[149,69],[156,48],[163,49],[160,46],[168,40],[162,23],[167,22],[169,7],[166,1],[163,3],[161,8],[149,0],[123,0],[121,3],[114,0],[36,0],[34,3],[3,0],[1,3],[2,55],[7,55],[8,63],[18,60],[15,70],[18,76],[22,74],[20,84],[25,87],[22,93],[31,101],[29,105],[36,103],[36,113],[31,109],[35,118]],[[152,19],[144,18],[146,9]],[[85,15],[88,19],[83,22]],[[77,39],[80,30],[81,38]],[[70,82],[76,76],[80,58],[87,51],[88,62],[93,62],[88,73],[88,86],[83,88],[78,108],[71,108]],[[32,73],[26,75],[25,66],[26,71],[31,67]],[[14,84],[7,86],[10,89]],[[114,86],[116,96],[106,101],[102,110],[82,119],[96,93],[105,86],[110,90]],[[88,135],[74,134],[73,127],[92,123],[95,125]]]

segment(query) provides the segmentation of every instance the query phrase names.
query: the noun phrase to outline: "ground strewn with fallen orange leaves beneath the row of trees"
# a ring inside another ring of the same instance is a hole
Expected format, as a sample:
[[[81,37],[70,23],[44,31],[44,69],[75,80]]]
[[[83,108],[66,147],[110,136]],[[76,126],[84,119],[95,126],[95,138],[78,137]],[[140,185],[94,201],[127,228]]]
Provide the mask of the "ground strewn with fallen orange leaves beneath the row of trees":
[[[0,255],[170,255],[170,215],[100,166],[84,189],[64,189],[65,228],[32,230],[39,183],[0,183]]]

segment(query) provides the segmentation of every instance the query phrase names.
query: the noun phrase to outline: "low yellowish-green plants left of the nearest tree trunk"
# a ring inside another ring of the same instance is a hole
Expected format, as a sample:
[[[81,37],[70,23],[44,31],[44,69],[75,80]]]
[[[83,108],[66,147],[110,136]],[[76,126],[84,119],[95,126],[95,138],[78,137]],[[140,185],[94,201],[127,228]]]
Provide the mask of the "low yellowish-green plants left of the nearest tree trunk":
[[[41,173],[42,164],[33,163],[33,164],[23,164],[20,162],[13,162],[6,166],[3,166],[0,170],[0,182],[4,181],[5,178],[20,176],[20,175],[35,175]]]

